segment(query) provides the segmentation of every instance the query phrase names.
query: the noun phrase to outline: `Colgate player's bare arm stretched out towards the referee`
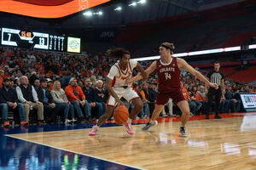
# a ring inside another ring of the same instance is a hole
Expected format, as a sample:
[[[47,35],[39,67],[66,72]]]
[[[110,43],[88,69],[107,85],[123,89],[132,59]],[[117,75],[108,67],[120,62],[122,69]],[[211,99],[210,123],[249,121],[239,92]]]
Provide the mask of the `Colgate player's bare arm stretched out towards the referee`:
[[[202,82],[205,82],[207,86],[218,89],[218,85],[211,83],[204,77],[201,72],[196,71],[191,65],[189,65],[184,59],[177,58],[177,65],[179,68],[183,68],[186,71],[189,71],[192,75],[199,78]]]

